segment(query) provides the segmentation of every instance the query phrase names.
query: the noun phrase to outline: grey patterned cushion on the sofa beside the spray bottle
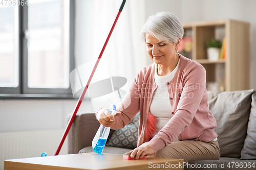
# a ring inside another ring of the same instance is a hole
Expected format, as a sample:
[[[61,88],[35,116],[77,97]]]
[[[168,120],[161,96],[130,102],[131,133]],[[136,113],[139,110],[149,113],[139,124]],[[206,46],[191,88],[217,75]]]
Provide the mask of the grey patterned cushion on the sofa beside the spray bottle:
[[[134,149],[137,147],[140,113],[132,119],[130,124],[115,130],[106,146]]]

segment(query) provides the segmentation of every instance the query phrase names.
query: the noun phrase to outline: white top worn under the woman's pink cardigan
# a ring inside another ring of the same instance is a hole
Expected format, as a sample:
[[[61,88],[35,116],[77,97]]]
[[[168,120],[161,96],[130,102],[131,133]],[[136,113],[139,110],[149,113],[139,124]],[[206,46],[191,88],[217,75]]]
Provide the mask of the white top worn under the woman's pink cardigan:
[[[152,134],[151,137],[154,137],[164,127],[169,119],[172,118],[172,105],[170,105],[170,97],[166,84],[174,78],[179,64],[180,60],[175,69],[166,76],[158,76],[157,64],[155,65],[154,77],[158,87],[153,94],[153,99],[150,106],[150,113],[156,117],[156,131]],[[178,139],[174,141],[178,141]]]

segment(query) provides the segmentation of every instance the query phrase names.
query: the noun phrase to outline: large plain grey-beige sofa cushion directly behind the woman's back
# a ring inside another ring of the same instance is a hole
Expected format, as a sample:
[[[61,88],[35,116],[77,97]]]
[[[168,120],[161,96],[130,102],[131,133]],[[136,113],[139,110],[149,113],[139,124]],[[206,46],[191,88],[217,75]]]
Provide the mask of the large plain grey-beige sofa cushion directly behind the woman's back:
[[[216,118],[215,132],[222,157],[241,157],[251,106],[251,90],[208,92],[209,109]]]

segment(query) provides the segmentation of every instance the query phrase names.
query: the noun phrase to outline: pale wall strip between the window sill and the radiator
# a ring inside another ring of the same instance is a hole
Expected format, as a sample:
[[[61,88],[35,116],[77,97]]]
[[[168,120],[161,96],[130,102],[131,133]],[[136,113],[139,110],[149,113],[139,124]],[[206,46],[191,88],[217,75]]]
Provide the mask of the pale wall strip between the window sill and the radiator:
[[[76,100],[0,100],[0,132],[66,128]],[[78,112],[93,112],[83,101]]]

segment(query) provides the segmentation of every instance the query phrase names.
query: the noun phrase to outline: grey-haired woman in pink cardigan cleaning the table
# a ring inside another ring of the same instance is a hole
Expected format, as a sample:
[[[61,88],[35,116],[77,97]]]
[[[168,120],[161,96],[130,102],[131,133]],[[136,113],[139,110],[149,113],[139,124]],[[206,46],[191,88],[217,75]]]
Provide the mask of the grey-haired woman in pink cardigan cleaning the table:
[[[121,129],[140,111],[138,148],[127,152],[135,159],[153,155],[184,162],[218,160],[216,119],[207,104],[206,71],[178,54],[184,29],[168,12],[147,19],[140,33],[153,64],[143,68],[113,117],[102,108],[100,124]],[[131,104],[122,109],[126,103]]]

